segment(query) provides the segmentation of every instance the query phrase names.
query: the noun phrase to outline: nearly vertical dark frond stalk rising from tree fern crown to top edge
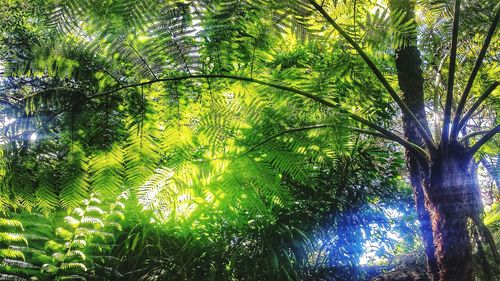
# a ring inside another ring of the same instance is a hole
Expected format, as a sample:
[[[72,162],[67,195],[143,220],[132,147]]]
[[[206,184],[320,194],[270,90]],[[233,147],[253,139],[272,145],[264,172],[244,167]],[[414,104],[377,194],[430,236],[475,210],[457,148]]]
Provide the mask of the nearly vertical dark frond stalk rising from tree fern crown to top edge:
[[[446,87],[446,101],[444,105],[443,130],[441,132],[440,146],[446,153],[450,137],[451,107],[453,105],[453,85],[455,83],[455,67],[458,44],[458,22],[460,20],[460,2],[455,0],[455,12],[453,14],[453,29],[451,34],[450,66],[448,67],[448,85]]]

